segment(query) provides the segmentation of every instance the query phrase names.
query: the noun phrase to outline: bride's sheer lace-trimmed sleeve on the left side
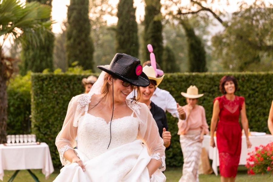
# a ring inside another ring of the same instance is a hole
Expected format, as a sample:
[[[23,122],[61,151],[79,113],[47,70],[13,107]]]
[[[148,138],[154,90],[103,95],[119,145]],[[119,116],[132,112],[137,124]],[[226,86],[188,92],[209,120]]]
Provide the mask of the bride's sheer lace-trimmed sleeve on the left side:
[[[78,120],[88,109],[90,98],[90,94],[82,94],[73,97],[69,102],[62,130],[57,135],[55,142],[62,165],[68,163],[68,160],[63,157],[66,150],[73,150],[73,148],[76,147],[75,139],[77,136]]]

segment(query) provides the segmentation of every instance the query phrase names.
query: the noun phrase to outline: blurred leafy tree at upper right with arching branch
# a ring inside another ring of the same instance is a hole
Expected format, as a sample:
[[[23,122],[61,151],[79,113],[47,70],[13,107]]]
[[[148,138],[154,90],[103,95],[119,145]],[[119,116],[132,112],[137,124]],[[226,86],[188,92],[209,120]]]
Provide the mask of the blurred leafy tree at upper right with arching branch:
[[[248,5],[242,1],[231,18],[224,9],[213,8],[213,5],[221,7],[230,2],[215,0],[212,4],[208,0],[190,0],[188,4],[181,4],[179,0],[167,0],[163,8],[167,17],[210,14],[223,25],[224,31],[213,37],[214,49],[207,49],[212,52],[210,66],[221,63],[220,71],[272,70],[272,3],[255,0]]]

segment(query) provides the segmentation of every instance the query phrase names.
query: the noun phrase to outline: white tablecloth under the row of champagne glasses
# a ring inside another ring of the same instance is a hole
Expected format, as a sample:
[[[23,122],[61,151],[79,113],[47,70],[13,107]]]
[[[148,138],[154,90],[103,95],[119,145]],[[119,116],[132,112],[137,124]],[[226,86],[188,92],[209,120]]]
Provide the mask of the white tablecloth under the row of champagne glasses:
[[[0,144],[0,157],[0,180],[3,180],[4,170],[42,169],[46,179],[54,171],[46,143],[22,146]]]

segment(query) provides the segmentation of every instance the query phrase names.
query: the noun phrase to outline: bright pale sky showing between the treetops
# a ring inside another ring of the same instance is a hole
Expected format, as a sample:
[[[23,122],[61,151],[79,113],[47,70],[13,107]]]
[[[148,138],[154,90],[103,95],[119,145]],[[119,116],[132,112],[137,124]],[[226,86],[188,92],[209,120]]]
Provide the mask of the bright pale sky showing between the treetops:
[[[163,2],[164,0],[161,0]],[[188,3],[189,0],[181,0],[184,3]],[[212,0],[208,0],[212,1]],[[226,6],[226,0],[214,0],[217,3],[213,3],[212,8],[217,8],[221,11],[225,10],[228,13],[232,13],[238,9],[238,2],[244,0],[231,0],[230,5]],[[248,4],[253,3],[255,0],[245,0]],[[109,0],[109,3],[116,7],[119,0]],[[265,2],[273,3],[273,0],[265,0]],[[67,15],[67,5],[70,4],[70,0],[53,0],[52,1],[52,19],[56,20],[57,23],[52,25],[52,31],[54,33],[62,32],[62,22],[66,20]],[[136,21],[140,22],[144,18],[144,0],[134,0],[134,7],[136,7]],[[115,24],[117,22],[117,17],[106,17],[108,24]]]

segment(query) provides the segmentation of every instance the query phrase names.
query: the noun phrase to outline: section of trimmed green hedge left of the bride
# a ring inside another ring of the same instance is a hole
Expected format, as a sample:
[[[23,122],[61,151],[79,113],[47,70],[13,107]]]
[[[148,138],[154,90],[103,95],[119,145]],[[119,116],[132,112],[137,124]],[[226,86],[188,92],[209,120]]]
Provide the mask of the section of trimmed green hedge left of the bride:
[[[49,145],[54,167],[61,166],[55,139],[62,129],[69,101],[84,92],[82,79],[89,75],[32,74],[32,133],[38,141]]]

